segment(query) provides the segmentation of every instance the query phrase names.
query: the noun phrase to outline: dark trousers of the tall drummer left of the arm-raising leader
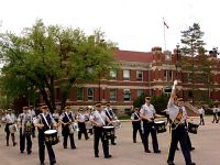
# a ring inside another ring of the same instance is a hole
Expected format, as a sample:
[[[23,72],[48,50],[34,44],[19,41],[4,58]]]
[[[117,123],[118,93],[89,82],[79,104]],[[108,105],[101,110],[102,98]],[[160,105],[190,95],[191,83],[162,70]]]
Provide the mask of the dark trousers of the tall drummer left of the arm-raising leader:
[[[153,150],[154,152],[158,151],[158,142],[157,142],[157,136],[156,136],[156,127],[154,122],[147,123],[143,122],[143,128],[144,128],[144,133],[143,133],[143,144],[144,144],[144,150],[148,150],[148,134],[151,133],[152,136],[152,143],[153,143]]]

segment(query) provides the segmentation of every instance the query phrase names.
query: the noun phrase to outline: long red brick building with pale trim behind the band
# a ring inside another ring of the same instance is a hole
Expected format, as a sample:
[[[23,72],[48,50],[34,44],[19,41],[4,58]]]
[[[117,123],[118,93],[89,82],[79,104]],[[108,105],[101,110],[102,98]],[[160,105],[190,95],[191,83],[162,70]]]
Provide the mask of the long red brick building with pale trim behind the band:
[[[118,112],[130,110],[135,100],[142,92],[150,96],[158,96],[166,92],[173,85],[174,79],[178,79],[178,95],[185,100],[190,101],[189,72],[183,70],[177,65],[180,53],[162,52],[161,47],[153,47],[152,52],[116,51],[117,59],[120,63],[120,70],[111,70],[110,79],[101,79],[96,84],[85,84],[82,88],[73,89],[67,105],[74,109],[79,106],[92,106],[96,101],[110,101]],[[217,62],[212,66],[211,81],[215,90],[209,91],[212,101],[220,101],[220,67],[217,57],[211,57]],[[197,88],[207,95],[208,88],[201,84],[195,84]],[[56,103],[59,103],[59,91],[57,89]],[[195,98],[197,96],[195,95]]]

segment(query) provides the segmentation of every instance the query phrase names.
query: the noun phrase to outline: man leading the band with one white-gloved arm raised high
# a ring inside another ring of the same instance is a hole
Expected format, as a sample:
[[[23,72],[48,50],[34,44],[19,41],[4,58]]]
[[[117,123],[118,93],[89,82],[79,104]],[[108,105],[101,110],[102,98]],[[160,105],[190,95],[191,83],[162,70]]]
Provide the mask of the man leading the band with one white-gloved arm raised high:
[[[170,124],[172,140],[169,144],[167,164],[175,165],[174,156],[175,156],[177,143],[179,142],[186,165],[196,165],[196,163],[191,162],[191,155],[190,155],[188,141],[187,141],[187,131],[185,128],[186,127],[185,114],[177,100],[177,96],[175,91],[176,85],[177,85],[177,80],[174,81],[170,98],[167,105],[167,109],[169,111],[169,119],[172,120],[172,124]]]

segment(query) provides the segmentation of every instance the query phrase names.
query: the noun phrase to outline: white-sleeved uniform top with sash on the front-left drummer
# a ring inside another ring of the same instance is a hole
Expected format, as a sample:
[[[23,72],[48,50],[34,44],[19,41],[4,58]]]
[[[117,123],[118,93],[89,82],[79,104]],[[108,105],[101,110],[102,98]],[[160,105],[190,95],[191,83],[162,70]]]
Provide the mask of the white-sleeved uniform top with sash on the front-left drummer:
[[[51,112],[46,112],[44,114],[45,119],[43,118],[43,113],[40,113],[37,116],[37,118],[34,120],[34,124],[44,124],[43,131],[50,130],[53,128],[53,124],[56,123],[56,121],[54,120],[54,118],[52,117]]]

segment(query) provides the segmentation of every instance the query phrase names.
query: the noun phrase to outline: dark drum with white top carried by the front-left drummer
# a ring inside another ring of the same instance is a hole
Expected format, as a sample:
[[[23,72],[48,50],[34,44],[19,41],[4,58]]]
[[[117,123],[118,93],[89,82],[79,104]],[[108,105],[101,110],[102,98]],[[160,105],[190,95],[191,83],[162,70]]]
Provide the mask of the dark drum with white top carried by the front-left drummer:
[[[56,130],[47,130],[44,132],[45,144],[55,145],[59,142]]]

